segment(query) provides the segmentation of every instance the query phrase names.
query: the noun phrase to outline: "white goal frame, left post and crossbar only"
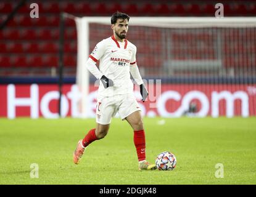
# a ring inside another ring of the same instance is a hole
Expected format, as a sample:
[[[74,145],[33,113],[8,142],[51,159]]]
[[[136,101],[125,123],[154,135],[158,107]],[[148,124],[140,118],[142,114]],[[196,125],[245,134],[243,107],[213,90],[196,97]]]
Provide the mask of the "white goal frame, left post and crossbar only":
[[[86,69],[86,61],[89,56],[89,23],[110,25],[110,17],[74,17],[65,14],[76,22],[77,29],[77,70],[76,84],[80,87],[81,113],[80,118],[88,118],[89,71]],[[131,17],[129,26],[153,26],[159,28],[209,28],[209,27],[255,27],[256,17]]]

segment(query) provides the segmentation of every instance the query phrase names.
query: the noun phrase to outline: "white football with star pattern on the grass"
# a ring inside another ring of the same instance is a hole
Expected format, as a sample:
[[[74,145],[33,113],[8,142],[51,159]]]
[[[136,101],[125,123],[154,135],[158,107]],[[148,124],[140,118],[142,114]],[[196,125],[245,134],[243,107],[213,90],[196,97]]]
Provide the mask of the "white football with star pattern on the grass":
[[[155,165],[160,171],[172,171],[173,169],[175,169],[176,163],[177,160],[175,155],[168,151],[160,153],[155,159]]]

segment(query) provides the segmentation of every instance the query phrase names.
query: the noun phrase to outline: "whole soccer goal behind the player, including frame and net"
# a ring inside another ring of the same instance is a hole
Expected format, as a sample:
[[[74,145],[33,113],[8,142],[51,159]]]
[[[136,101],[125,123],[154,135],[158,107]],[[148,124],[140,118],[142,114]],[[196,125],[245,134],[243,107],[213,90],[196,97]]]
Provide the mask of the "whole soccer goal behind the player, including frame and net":
[[[110,17],[75,21],[79,108],[81,117],[88,117],[88,96],[96,79],[85,63],[97,42],[113,32]],[[255,17],[131,17],[127,39],[137,47],[142,78],[161,82],[159,95],[151,100],[149,92],[143,115],[256,115]]]

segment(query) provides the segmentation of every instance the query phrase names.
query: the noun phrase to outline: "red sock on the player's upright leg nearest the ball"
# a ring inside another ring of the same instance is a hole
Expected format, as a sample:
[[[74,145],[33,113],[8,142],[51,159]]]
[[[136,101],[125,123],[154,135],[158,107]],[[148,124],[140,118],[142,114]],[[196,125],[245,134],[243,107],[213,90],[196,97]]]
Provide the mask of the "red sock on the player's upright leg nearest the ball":
[[[138,160],[146,159],[146,140],[144,130],[134,131],[133,142],[137,150]]]

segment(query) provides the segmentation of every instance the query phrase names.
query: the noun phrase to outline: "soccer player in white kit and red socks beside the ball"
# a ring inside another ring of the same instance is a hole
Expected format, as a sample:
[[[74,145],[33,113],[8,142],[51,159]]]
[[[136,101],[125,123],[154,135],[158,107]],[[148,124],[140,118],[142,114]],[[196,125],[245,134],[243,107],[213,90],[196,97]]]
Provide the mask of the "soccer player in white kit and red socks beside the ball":
[[[136,64],[136,46],[126,39],[130,17],[122,12],[115,12],[111,17],[113,35],[97,43],[86,62],[88,70],[100,79],[96,107],[96,128],[91,129],[84,139],[78,141],[73,162],[78,164],[85,148],[95,140],[107,135],[110,122],[118,112],[122,120],[126,119],[134,131],[139,170],[156,169],[155,164],[146,161],[145,132],[141,109],[133,94],[133,82],[130,73],[140,86],[142,101],[148,92],[139,74]],[[96,62],[99,60],[99,69]]]

